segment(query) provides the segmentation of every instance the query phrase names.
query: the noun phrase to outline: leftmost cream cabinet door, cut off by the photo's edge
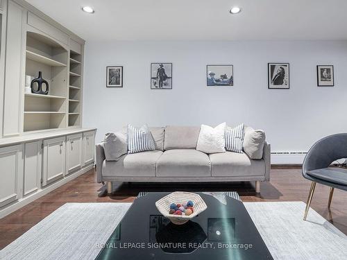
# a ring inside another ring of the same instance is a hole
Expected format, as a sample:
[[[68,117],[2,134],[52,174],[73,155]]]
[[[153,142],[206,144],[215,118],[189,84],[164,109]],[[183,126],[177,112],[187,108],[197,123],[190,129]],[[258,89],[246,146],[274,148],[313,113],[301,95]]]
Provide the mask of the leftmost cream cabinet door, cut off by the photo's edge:
[[[0,148],[0,207],[22,198],[22,145]]]

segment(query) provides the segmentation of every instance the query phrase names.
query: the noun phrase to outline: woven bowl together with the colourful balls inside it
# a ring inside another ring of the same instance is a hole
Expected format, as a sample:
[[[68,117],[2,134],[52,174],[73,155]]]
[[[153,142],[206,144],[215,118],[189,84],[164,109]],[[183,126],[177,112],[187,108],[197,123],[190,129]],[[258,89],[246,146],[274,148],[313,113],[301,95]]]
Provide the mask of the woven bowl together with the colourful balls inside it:
[[[201,196],[185,191],[175,191],[155,202],[155,206],[176,225],[187,223],[208,208]]]

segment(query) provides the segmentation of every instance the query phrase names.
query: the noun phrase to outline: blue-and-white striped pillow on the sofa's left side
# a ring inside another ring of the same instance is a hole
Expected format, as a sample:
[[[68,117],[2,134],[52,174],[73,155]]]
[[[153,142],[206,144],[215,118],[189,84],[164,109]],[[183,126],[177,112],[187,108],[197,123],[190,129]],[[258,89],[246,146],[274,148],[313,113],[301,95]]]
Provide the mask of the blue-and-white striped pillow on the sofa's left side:
[[[128,124],[128,153],[139,153],[146,150],[155,150],[155,144],[147,125],[134,128]]]

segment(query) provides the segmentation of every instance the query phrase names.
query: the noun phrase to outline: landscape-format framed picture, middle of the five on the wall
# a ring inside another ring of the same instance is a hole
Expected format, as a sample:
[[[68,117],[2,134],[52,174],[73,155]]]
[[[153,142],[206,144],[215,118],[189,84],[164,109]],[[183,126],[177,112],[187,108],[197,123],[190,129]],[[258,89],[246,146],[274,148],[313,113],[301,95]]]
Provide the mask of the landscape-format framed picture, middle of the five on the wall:
[[[206,85],[208,86],[233,86],[234,66],[232,65],[207,65]]]

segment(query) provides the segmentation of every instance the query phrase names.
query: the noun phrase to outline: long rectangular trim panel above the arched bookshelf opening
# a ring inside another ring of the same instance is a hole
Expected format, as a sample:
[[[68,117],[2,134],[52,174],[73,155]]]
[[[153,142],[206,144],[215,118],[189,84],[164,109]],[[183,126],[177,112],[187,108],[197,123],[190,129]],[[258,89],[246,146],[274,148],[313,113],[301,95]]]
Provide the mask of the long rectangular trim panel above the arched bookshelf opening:
[[[69,36],[66,33],[63,33],[58,28],[52,26],[40,17],[33,15],[31,12],[28,12],[28,24],[64,44],[69,44]]]

